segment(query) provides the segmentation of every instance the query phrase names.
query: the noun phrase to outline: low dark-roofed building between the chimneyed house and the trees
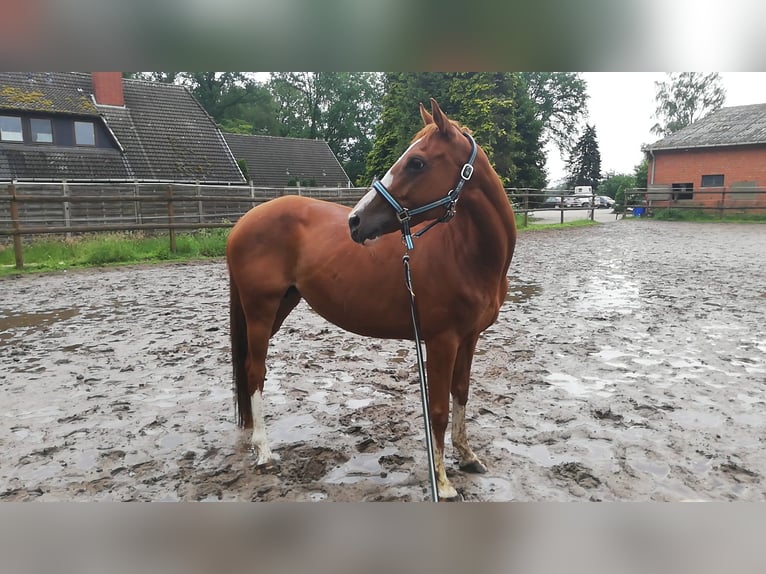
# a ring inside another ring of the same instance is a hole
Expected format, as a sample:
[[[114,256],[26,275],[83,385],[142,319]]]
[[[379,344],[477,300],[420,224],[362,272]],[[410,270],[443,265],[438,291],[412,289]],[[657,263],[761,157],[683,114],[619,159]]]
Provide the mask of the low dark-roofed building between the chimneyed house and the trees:
[[[324,140],[224,134],[234,157],[244,162],[256,187],[350,187]]]

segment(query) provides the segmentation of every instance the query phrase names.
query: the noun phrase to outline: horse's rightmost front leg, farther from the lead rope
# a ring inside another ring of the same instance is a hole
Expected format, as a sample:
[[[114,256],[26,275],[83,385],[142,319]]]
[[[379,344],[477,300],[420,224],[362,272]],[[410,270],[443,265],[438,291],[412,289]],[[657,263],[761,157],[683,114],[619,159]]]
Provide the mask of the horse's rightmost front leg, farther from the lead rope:
[[[471,363],[478,337],[471,336],[458,349],[455,370],[452,374],[452,446],[458,455],[460,469],[465,472],[485,473],[487,467],[468,445],[465,428],[465,406],[468,403],[468,387],[471,382]]]

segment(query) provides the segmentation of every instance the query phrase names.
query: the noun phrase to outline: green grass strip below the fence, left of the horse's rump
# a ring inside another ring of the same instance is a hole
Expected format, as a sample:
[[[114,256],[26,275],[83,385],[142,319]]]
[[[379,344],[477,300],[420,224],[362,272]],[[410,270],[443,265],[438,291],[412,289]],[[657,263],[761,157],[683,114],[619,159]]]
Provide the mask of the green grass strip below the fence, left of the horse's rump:
[[[23,272],[52,271],[152,261],[222,257],[228,229],[205,229],[176,235],[176,252],[167,235],[102,234],[75,239],[24,241]],[[18,273],[11,246],[0,246],[0,275]]]

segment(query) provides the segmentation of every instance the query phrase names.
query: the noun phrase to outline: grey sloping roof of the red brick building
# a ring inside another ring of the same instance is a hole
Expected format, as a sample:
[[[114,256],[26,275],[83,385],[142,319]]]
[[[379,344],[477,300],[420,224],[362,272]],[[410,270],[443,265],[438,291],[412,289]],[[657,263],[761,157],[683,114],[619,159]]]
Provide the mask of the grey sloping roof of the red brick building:
[[[732,106],[644,147],[645,150],[766,144],[766,104]]]

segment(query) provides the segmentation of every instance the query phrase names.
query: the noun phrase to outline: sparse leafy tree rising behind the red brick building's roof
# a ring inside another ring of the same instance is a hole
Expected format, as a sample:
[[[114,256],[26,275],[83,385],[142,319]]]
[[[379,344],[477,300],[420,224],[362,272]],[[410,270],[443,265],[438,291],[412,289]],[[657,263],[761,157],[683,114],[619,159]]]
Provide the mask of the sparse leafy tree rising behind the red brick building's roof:
[[[710,112],[726,101],[726,90],[718,72],[669,73],[664,82],[655,82],[657,107],[654,117],[660,120],[652,127],[659,136],[670,135]]]

